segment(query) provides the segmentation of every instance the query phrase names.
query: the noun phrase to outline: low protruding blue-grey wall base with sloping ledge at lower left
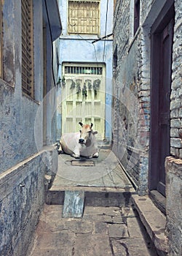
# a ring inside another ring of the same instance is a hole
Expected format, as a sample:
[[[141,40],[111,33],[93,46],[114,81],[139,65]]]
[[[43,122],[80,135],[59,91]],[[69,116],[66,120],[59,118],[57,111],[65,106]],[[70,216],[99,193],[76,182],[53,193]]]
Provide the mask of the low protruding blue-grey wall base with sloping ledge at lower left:
[[[45,175],[54,176],[57,152],[41,151],[0,175],[0,255],[26,255],[44,204]],[[8,184],[8,186],[7,186]]]

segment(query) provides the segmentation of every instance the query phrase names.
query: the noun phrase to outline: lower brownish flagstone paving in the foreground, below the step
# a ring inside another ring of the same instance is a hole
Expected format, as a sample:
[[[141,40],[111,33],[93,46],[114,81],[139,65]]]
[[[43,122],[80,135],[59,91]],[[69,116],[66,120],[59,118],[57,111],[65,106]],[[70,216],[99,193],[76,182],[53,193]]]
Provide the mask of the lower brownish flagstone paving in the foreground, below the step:
[[[156,256],[132,208],[84,208],[81,219],[63,218],[63,206],[45,205],[31,256]]]

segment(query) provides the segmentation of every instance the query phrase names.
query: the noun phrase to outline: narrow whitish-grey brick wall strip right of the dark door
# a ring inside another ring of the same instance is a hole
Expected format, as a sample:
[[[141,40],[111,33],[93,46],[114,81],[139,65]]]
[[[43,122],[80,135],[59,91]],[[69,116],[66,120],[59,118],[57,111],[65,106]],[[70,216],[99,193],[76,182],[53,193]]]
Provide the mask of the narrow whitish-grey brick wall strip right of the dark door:
[[[175,28],[173,44],[173,75],[170,95],[170,154],[182,158],[182,50],[181,1],[175,1]]]

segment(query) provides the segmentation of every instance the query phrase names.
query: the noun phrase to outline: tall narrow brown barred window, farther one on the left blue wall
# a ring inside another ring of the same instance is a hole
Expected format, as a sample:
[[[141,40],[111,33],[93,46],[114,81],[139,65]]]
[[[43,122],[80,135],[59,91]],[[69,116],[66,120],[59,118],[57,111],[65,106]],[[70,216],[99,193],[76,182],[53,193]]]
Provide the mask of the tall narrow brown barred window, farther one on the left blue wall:
[[[33,7],[21,0],[22,10],[22,89],[33,98]]]

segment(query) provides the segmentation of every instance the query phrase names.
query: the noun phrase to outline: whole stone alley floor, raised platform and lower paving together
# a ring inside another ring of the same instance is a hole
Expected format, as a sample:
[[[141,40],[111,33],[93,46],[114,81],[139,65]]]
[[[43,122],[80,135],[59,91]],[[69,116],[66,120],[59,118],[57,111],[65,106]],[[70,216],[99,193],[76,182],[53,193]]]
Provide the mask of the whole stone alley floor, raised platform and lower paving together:
[[[101,150],[98,159],[63,154],[58,161],[31,256],[157,256],[132,206],[135,189],[111,151]],[[67,192],[84,193],[81,217],[63,216]]]

